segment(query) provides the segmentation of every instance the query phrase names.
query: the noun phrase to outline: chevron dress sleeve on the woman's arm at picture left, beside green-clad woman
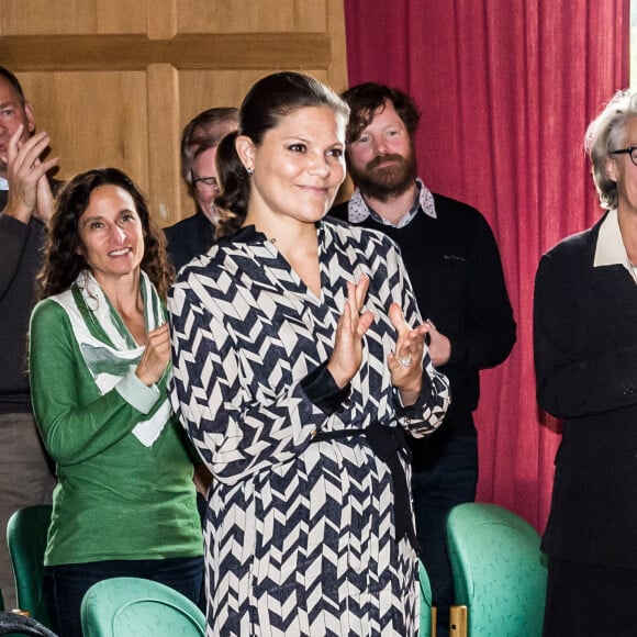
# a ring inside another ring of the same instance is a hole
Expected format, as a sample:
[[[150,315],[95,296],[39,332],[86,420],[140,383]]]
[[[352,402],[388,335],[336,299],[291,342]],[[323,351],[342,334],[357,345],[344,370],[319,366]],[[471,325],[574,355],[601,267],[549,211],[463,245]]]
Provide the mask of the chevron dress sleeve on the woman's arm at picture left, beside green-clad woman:
[[[279,393],[254,395],[244,378],[241,356],[260,356],[237,345],[223,320],[224,311],[210,297],[200,297],[197,275],[174,286],[168,299],[172,339],[170,400],[198,451],[222,482],[272,470],[301,454],[329,418],[324,383],[314,402],[317,379],[299,379]],[[239,354],[241,350],[241,354]],[[328,373],[328,372],[326,372]],[[305,385],[303,381],[305,380]]]

